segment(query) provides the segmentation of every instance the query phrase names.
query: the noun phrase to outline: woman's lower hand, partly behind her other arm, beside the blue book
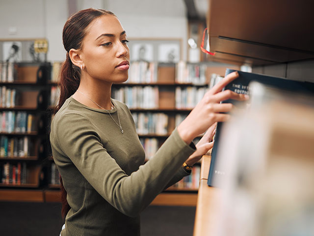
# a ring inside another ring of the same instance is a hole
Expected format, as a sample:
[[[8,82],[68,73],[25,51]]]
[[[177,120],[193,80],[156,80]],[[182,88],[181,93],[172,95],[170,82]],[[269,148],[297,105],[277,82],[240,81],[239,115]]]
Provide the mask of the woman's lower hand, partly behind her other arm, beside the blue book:
[[[196,151],[193,152],[193,154],[190,155],[185,161],[187,165],[193,166],[202,158],[203,155],[205,155],[209,151],[209,149],[213,147],[214,142],[209,143],[209,141],[212,140],[212,137],[215,134],[216,126],[217,122],[209,127],[209,129],[206,131],[201,140],[195,145]]]

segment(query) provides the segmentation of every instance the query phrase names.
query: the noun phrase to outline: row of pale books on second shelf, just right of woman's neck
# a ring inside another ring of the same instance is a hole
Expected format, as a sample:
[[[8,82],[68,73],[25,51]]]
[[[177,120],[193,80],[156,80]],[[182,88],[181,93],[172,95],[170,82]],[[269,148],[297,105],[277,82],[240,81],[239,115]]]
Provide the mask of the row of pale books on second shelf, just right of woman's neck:
[[[129,108],[154,109],[158,108],[159,92],[157,86],[134,86],[113,89],[112,97]]]

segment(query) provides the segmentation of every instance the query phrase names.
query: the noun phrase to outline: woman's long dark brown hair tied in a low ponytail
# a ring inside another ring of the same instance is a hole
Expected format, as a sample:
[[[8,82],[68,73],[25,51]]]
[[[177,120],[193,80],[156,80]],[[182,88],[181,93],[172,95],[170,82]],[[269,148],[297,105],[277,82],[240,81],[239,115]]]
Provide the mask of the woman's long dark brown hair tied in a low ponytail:
[[[73,49],[80,49],[82,40],[86,35],[86,29],[95,19],[103,15],[113,15],[112,12],[103,9],[88,8],[74,13],[65,23],[63,28],[63,46],[67,51],[66,59],[61,64],[59,74],[60,82],[60,98],[59,103],[55,108],[55,113],[62,107],[65,100],[68,99],[79,86],[80,69],[74,65],[69,57],[69,51]],[[67,202],[67,192],[63,187],[63,181],[60,176],[60,189],[61,189],[61,214],[65,218],[70,210]]]

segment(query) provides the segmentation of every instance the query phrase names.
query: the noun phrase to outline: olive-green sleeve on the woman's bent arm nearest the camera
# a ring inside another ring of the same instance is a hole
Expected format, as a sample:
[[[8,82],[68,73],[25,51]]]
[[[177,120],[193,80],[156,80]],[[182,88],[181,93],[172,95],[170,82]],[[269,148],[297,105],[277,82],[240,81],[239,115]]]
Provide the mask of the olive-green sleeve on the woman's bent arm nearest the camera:
[[[64,156],[113,207],[134,217],[166,187],[195,148],[175,129],[154,158],[128,176],[108,154],[93,124],[78,114],[62,116],[53,128],[55,142]]]

